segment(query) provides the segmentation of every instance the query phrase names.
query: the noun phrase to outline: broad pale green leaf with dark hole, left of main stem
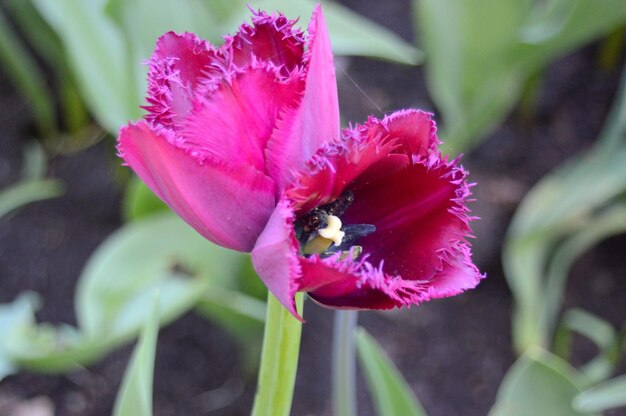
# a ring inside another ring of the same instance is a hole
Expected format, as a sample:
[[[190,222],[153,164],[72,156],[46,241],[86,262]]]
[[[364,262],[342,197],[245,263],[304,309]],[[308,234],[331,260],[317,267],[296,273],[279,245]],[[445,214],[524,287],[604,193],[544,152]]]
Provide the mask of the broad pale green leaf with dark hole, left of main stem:
[[[80,328],[95,337],[135,331],[156,288],[162,319],[170,321],[211,284],[231,287],[243,256],[206,241],[169,212],[128,223],[96,250],[80,276]]]

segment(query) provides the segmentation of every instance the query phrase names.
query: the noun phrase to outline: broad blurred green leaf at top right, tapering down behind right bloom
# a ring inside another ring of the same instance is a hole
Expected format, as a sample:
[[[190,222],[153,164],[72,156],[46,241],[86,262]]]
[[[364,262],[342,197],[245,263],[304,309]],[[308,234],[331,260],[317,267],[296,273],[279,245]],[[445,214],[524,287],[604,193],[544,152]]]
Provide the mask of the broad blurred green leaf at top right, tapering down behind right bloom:
[[[415,0],[445,153],[474,146],[559,56],[626,22],[622,0]],[[452,30],[453,29],[453,30]]]

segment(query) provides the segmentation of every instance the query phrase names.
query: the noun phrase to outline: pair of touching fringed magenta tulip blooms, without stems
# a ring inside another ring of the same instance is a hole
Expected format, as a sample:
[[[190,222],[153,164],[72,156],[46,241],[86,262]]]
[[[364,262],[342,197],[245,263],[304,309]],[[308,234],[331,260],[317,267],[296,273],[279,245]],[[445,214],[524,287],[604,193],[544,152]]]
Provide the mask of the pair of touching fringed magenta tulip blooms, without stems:
[[[163,35],[121,157],[205,238],[251,252],[295,316],[296,292],[390,309],[475,287],[467,173],[440,154],[431,114],[342,131],[321,9],[307,34],[294,25],[255,12],[221,47]]]

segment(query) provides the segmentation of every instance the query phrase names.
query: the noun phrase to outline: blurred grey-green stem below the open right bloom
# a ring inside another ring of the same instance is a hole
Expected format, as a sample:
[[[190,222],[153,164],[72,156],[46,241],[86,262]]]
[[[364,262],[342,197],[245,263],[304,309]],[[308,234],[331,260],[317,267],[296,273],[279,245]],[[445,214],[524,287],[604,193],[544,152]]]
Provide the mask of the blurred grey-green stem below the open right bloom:
[[[354,335],[357,311],[336,311],[333,334],[333,414],[356,416]]]

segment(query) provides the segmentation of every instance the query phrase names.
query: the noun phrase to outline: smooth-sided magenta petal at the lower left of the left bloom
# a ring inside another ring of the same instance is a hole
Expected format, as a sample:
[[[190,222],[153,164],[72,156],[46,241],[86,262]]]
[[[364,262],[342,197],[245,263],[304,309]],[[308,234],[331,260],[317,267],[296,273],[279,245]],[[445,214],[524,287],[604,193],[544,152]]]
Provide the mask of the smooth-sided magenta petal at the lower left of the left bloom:
[[[120,131],[120,155],[205,238],[250,251],[274,209],[274,182],[250,166],[194,157],[169,134],[143,121],[131,124]]]

